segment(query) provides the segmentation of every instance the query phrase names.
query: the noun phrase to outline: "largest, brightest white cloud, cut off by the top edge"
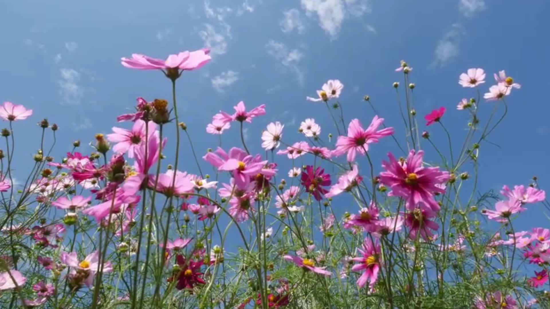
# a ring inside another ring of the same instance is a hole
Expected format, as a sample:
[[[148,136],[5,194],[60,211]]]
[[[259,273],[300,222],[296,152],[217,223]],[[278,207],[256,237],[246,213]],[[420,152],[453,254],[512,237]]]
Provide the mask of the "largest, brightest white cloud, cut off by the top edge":
[[[371,12],[370,0],[301,0],[307,16],[317,15],[319,25],[331,38],[335,38],[343,21],[358,18]]]

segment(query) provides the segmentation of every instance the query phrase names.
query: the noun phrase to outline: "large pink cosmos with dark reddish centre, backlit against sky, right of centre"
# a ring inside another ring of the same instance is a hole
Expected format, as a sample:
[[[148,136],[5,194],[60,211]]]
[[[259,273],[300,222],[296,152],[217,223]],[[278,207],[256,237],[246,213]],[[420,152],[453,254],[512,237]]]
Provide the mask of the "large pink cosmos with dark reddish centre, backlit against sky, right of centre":
[[[359,119],[353,119],[348,126],[348,136],[338,136],[336,149],[333,151],[335,156],[341,156],[348,153],[348,162],[354,161],[357,151],[365,154],[368,151],[368,144],[378,142],[378,139],[393,134],[393,128],[378,130],[384,122],[384,118],[378,118],[376,115],[372,118],[371,124],[365,130]]]

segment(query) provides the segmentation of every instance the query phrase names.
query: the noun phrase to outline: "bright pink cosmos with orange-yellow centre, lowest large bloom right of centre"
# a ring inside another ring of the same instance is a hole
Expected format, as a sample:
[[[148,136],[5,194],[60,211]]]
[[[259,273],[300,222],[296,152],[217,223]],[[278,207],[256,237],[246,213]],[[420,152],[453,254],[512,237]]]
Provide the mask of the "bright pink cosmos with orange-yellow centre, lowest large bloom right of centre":
[[[362,255],[362,257],[354,257],[352,260],[359,262],[359,264],[354,264],[351,268],[354,272],[359,272],[364,270],[365,272],[361,274],[361,277],[357,279],[357,286],[362,288],[368,281],[368,286],[372,291],[376,279],[378,279],[378,271],[380,270],[380,263],[382,262],[381,249],[378,241],[372,242],[370,238],[365,238],[363,241],[362,249],[357,248]]]

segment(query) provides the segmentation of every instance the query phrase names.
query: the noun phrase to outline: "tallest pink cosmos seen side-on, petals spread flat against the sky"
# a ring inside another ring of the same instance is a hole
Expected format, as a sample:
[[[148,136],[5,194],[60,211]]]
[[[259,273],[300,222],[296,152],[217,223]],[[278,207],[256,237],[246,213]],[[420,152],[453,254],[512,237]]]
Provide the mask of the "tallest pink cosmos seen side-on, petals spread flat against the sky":
[[[210,49],[202,48],[194,52],[171,54],[166,60],[151,58],[142,54],[132,54],[131,58],[122,58],[122,65],[138,70],[194,70],[202,67],[212,59]]]

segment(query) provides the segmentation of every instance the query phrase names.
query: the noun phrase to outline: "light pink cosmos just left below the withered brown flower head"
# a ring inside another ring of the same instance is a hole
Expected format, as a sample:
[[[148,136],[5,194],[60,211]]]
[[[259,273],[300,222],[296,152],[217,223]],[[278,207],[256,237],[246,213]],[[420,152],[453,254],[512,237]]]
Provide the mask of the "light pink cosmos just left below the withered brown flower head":
[[[149,139],[151,135],[155,134],[157,125],[154,122],[149,122],[148,126]],[[107,134],[107,140],[117,143],[113,146],[113,151],[115,153],[128,152],[128,157],[133,158],[135,148],[139,147],[142,142],[145,143],[145,131],[145,122],[138,119],[131,130],[113,126],[114,133]]]

